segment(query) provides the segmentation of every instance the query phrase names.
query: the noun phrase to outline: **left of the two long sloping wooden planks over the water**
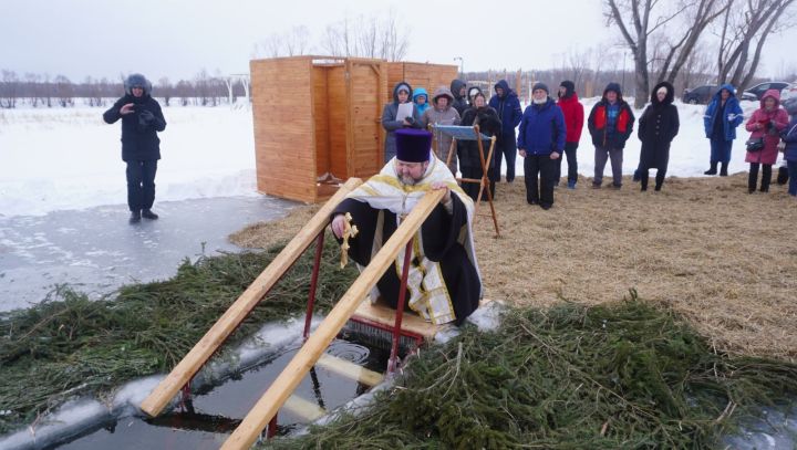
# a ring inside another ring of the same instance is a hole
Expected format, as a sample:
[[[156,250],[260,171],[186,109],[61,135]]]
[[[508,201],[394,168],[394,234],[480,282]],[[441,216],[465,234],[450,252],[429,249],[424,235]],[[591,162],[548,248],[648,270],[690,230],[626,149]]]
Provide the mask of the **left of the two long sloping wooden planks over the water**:
[[[338,190],[310,221],[302,227],[299,233],[271,261],[266,270],[247,287],[232,303],[227,312],[214,324],[188,354],[172,369],[149,396],[142,402],[141,409],[149,416],[157,416],[174,396],[185,386],[194,375],[205,365],[218,347],[225,342],[240,324],[249,312],[260,303],[266,293],[279,281],[282,274],[293,265],[293,262],[304,252],[310,243],[322,232],[329,217],[346,193],[362,184],[359,178],[349,179]],[[282,399],[284,401],[284,398]]]

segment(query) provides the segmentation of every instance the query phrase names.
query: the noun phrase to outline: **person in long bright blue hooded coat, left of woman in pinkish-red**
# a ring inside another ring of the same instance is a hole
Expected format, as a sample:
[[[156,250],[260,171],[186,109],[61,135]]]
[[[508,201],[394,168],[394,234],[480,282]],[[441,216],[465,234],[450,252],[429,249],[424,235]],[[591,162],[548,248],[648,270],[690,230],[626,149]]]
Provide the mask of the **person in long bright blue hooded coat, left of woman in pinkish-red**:
[[[711,167],[704,175],[716,175],[717,164],[721,164],[720,176],[727,177],[727,166],[731,161],[731,149],[736,139],[736,127],[744,122],[744,115],[736,100],[736,90],[729,84],[720,87],[703,116],[706,137],[711,139]]]

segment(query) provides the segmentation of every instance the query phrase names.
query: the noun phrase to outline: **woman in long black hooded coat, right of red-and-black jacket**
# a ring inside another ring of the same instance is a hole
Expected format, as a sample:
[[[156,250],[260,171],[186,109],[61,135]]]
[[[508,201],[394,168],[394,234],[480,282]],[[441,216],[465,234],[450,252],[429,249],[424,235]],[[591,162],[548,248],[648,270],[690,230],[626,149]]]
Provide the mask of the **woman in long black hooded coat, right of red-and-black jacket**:
[[[670,144],[679,132],[677,108],[673,105],[675,90],[667,82],[653,87],[651,104],[648,105],[639,122],[639,138],[642,142],[640,153],[640,179],[642,190],[648,190],[648,170],[658,169],[655,190],[661,190],[670,163]]]

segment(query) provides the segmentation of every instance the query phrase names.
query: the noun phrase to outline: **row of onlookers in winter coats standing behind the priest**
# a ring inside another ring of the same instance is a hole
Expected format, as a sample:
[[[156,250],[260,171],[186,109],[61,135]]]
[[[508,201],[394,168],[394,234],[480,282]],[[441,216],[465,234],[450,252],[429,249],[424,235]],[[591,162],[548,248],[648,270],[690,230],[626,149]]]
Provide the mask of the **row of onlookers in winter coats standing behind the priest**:
[[[452,136],[435,128],[435,125],[478,125],[480,133],[496,138],[493,158],[486,161],[490,193],[495,196],[495,184],[500,181],[505,158],[506,182],[515,180],[516,156],[520,155],[524,158],[526,200],[529,205],[549,209],[553,206],[553,192],[559,186],[563,159],[568,163],[567,188],[576,189],[578,182],[577,149],[584,125],[584,108],[579,102],[576,85],[563,81],[551,93],[545,83],[536,83],[525,111],[505,80],[496,83],[494,88],[495,95],[488,101],[479,87],[468,88],[465,82],[454,80],[451,87],[436,88],[429,100],[423,87],[413,90],[408,83],[396,84],[393,102],[385,105],[382,114],[382,125],[387,132],[385,163],[395,156],[396,129],[429,128],[435,132],[437,157],[448,161],[451,171],[455,175],[459,171],[462,178],[480,179],[483,165],[478,144],[459,140],[452,147]],[[670,161],[670,145],[680,126],[674,97],[672,84],[658,84],[651,92],[650,104],[636,121],[633,109],[623,100],[620,84],[607,85],[600,101],[587,116],[587,128],[594,147],[593,189],[603,187],[607,163],[611,164],[612,171],[612,181],[608,186],[613,189],[622,187],[623,149],[634,125],[642,147],[633,179],[645,191],[649,171],[656,169],[654,189],[662,189]],[[410,109],[400,107],[401,104],[411,104],[412,112],[407,113]],[[404,117],[398,116],[400,111],[405,112]],[[736,128],[743,123],[745,117],[735,88],[723,85],[704,115],[705,135],[711,143],[711,166],[705,175],[728,175]],[[788,182],[789,195],[797,197],[797,98],[782,105],[779,92],[767,91],[762,96],[760,107],[747,118],[745,129],[749,132],[745,143],[745,161],[749,163],[748,191],[756,190],[759,171],[763,174],[759,190],[769,190],[773,165],[778,151],[784,151],[787,167],[779,171],[778,182]],[[455,153],[448,155],[452,150]],[[484,156],[486,154],[485,149]],[[463,182],[463,189],[476,199],[479,185]]]

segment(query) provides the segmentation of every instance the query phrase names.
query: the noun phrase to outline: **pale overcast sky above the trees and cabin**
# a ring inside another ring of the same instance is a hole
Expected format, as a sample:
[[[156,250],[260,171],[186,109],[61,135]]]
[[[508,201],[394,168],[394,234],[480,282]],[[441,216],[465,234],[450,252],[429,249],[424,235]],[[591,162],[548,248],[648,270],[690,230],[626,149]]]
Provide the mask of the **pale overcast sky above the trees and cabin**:
[[[615,48],[600,0],[0,0],[0,69],[157,81],[248,73],[255,44],[306,25],[320,42],[327,24],[393,8],[410,27],[407,61],[459,64],[465,71],[561,65],[569,52]],[[797,30],[773,35],[759,74],[797,69]],[[314,53],[322,53],[315,49]],[[629,60],[630,61],[630,60]],[[603,64],[605,67],[609,64]],[[630,67],[629,63],[629,67]]]

